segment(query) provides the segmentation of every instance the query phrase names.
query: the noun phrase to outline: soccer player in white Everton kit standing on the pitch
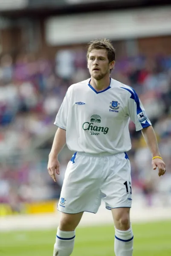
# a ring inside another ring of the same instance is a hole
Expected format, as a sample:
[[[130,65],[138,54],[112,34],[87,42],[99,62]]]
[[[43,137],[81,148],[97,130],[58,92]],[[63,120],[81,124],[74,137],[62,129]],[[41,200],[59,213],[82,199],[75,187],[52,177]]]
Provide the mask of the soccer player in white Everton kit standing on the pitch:
[[[133,231],[129,119],[141,130],[152,154],[152,167],[164,175],[154,129],[133,88],[110,78],[115,49],[107,39],[90,42],[91,78],[72,84],[55,119],[58,129],[49,154],[48,172],[56,181],[58,154],[65,143],[75,151],[65,172],[58,203],[62,212],[53,256],[70,256],[75,228],[85,211],[96,213],[105,202],[113,215],[116,256],[132,256]]]

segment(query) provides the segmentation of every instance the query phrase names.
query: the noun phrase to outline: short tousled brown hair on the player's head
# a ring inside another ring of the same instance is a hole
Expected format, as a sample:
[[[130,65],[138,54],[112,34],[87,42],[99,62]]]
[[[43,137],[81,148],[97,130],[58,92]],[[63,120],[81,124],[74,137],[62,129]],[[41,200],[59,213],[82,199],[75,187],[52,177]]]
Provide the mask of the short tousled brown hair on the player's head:
[[[87,60],[89,58],[90,52],[92,52],[93,49],[106,49],[109,63],[112,61],[115,61],[115,58],[116,58],[115,48],[113,47],[110,40],[103,38],[103,39],[96,39],[94,41],[91,41],[89,43],[89,47],[87,50]]]

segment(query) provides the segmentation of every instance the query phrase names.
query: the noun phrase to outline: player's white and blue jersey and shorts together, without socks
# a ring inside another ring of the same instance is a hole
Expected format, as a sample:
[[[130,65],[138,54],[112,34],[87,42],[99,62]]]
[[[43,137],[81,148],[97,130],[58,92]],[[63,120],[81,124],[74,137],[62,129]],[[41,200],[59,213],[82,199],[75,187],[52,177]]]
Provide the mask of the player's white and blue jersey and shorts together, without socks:
[[[97,212],[101,199],[107,209],[131,207],[129,120],[136,131],[151,125],[133,88],[110,79],[97,92],[90,79],[72,84],[55,119],[66,130],[75,155],[68,163],[58,209]],[[73,160],[74,158],[74,160]]]

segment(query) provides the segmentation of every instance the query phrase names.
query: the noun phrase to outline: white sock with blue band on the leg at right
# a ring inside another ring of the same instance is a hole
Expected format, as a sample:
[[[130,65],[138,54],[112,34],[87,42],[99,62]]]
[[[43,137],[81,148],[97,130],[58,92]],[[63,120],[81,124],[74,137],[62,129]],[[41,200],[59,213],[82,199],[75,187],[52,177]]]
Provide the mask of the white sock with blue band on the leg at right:
[[[126,231],[115,228],[114,250],[116,256],[132,256],[133,254],[133,231],[130,227]]]

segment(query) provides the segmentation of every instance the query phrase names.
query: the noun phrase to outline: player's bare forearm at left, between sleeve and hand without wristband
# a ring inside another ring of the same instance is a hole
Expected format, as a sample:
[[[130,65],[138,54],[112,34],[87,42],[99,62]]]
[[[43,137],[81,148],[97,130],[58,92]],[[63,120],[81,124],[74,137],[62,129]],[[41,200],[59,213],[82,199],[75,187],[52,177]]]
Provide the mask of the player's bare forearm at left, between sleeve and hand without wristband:
[[[49,156],[58,156],[62,148],[66,143],[66,131],[64,129],[58,128],[55,133],[55,137],[52,144],[52,149]]]

